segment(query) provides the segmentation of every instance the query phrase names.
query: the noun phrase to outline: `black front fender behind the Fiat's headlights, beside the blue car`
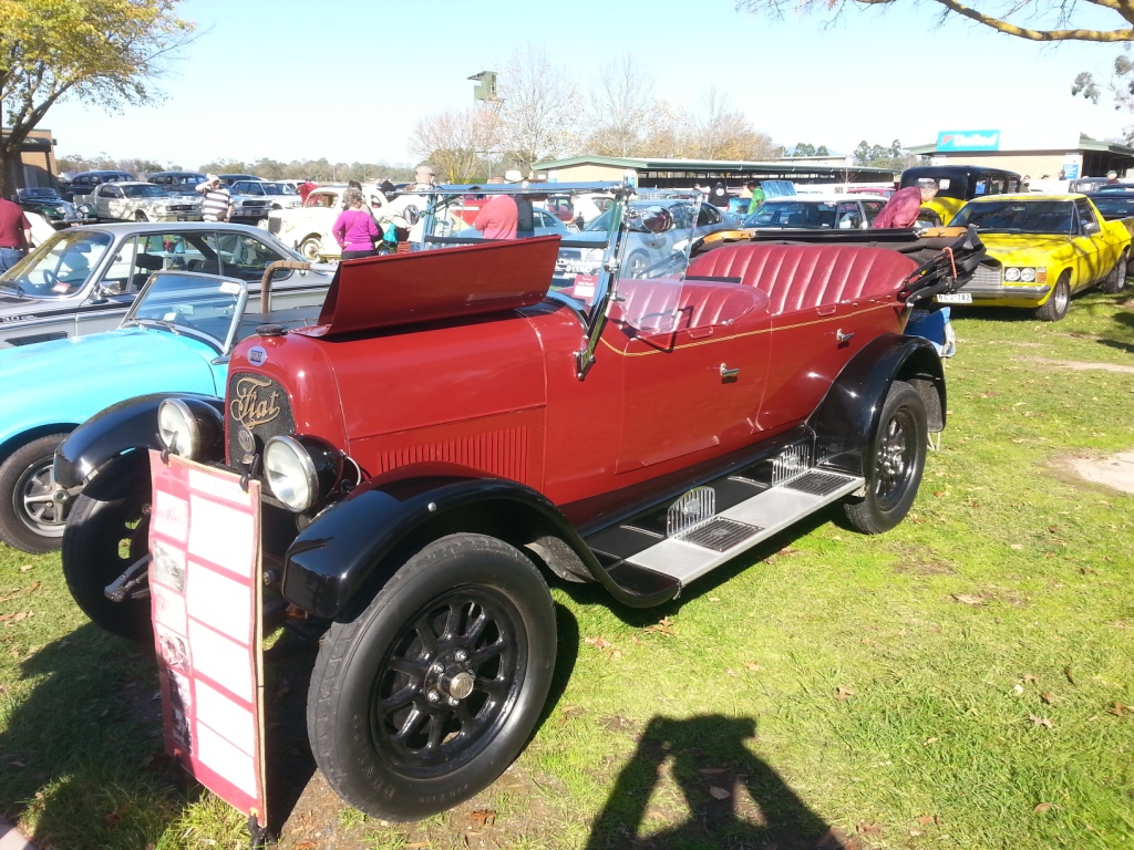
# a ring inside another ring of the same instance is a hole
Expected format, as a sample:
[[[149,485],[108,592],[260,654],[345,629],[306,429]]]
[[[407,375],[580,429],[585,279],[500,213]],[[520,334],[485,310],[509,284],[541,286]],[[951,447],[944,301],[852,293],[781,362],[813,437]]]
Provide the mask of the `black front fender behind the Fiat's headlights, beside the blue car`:
[[[161,449],[158,442],[158,406],[164,399],[195,399],[225,415],[225,400],[195,392],[155,392],[119,401],[100,410],[79,425],[56,450],[54,476],[65,487],[85,485],[95,499],[118,499],[129,491],[129,478],[120,471],[126,464],[133,474],[137,466],[130,454],[146,457],[146,449]],[[137,450],[143,450],[138,452]],[[223,449],[201,462],[223,460]],[[149,470],[149,466],[146,466]]]

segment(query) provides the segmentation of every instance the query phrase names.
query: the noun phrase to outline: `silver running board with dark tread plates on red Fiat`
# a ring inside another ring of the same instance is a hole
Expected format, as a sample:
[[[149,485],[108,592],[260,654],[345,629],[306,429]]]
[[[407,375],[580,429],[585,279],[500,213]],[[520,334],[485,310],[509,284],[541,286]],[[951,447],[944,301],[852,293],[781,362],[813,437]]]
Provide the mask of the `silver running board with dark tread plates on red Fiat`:
[[[635,552],[625,562],[687,585],[865,483],[858,476],[812,469]]]

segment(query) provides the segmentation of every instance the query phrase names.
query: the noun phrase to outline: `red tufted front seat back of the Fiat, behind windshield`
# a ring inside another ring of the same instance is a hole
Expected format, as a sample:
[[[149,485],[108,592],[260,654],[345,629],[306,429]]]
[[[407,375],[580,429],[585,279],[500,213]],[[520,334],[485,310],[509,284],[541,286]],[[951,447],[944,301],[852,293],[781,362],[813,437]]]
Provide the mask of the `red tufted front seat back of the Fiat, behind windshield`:
[[[768,303],[751,287],[674,279],[623,279],[618,295],[623,301],[616,321],[655,333],[729,325]]]

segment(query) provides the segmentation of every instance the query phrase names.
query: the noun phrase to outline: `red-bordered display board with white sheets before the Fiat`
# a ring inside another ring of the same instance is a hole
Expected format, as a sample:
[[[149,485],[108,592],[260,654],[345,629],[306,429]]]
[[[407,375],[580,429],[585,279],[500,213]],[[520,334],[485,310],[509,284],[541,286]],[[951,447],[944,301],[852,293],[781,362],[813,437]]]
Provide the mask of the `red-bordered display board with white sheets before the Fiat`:
[[[166,750],[261,826],[260,484],[150,452],[150,595]]]

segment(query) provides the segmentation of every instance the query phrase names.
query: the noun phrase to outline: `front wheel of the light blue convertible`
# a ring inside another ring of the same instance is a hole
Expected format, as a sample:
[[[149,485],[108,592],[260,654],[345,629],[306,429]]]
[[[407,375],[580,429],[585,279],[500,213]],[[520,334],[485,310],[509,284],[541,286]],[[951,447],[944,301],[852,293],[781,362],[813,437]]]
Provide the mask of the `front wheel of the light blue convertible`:
[[[0,539],[9,546],[36,554],[59,549],[69,500],[56,486],[51,465],[66,439],[67,434],[41,436],[0,465]]]

